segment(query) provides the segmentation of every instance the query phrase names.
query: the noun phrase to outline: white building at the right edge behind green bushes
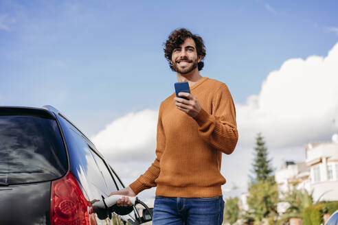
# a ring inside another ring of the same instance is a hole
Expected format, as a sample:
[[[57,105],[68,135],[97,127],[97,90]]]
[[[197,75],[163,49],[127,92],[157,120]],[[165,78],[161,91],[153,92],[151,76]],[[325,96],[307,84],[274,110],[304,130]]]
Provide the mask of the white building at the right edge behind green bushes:
[[[280,198],[295,187],[313,191],[314,202],[338,200],[338,134],[333,135],[332,141],[308,143],[305,153],[305,162],[286,161],[275,171]],[[280,202],[278,213],[288,207],[288,203]]]

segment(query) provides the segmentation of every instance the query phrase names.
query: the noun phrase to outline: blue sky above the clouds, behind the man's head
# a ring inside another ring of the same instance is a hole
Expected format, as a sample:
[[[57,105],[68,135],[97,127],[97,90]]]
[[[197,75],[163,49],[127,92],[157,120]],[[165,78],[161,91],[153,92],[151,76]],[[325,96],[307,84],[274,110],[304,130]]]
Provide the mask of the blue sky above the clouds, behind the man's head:
[[[50,104],[90,137],[128,113],[156,112],[176,82],[163,43],[186,27],[205,40],[201,75],[225,82],[236,105],[249,106],[284,62],[328,56],[338,42],[337,8],[337,1],[1,0],[0,104]],[[290,146],[330,139],[335,129]]]

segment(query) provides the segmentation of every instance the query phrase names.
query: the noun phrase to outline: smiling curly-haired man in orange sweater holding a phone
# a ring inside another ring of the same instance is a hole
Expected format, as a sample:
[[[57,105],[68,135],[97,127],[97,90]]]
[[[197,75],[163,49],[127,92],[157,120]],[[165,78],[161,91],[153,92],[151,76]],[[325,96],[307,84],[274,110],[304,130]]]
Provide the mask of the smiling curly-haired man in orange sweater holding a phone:
[[[173,93],[159,108],[157,158],[129,187],[111,193],[135,196],[157,187],[153,224],[222,224],[222,152],[231,154],[238,132],[232,96],[225,84],[203,78],[205,46],[187,29],[174,30],[164,49],[179,82],[191,93]],[[126,197],[120,206],[131,205]]]

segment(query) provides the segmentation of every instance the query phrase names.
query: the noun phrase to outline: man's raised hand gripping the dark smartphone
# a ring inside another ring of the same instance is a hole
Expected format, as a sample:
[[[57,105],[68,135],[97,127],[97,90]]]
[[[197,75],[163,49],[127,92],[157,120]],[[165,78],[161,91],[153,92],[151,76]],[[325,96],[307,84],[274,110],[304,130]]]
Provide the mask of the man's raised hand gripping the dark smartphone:
[[[185,92],[180,92],[179,96],[187,97],[189,100],[181,97],[174,97],[176,108],[190,115],[190,117],[196,117],[202,109],[199,104],[199,99],[197,99],[194,95]]]

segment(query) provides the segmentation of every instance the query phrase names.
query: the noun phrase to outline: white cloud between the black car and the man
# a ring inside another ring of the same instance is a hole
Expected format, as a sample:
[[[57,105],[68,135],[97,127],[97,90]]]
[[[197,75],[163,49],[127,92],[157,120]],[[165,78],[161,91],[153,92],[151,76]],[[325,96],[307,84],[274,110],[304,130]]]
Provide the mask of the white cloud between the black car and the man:
[[[153,155],[157,128],[157,111],[131,112],[109,123],[92,140],[109,159],[146,159]]]

